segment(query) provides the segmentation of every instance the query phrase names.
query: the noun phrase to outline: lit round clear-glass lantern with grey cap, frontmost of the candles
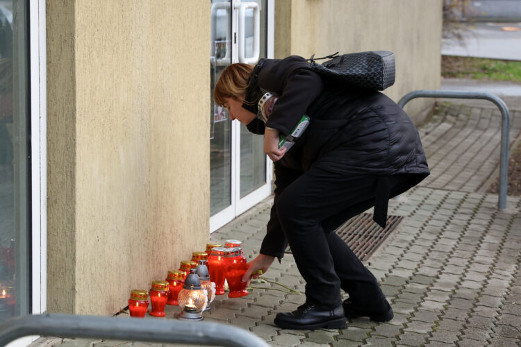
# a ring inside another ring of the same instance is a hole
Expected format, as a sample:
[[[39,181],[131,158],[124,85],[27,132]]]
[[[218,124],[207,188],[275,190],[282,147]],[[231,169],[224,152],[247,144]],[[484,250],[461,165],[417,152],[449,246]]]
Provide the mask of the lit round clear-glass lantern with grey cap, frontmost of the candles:
[[[178,319],[185,321],[201,321],[203,319],[203,311],[208,304],[206,290],[201,287],[201,280],[195,273],[195,269],[190,271],[186,276],[183,289],[179,292],[177,298],[181,312],[177,315]]]

